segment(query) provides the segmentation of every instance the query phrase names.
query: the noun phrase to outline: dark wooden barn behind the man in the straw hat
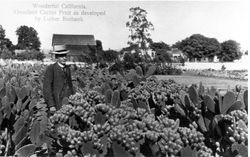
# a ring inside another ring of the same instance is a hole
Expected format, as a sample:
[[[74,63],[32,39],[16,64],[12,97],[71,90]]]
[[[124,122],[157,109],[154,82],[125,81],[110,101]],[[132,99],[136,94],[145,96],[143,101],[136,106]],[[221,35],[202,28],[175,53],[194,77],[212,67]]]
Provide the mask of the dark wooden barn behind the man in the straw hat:
[[[70,50],[68,54],[70,61],[82,61],[83,58],[86,59],[86,54],[96,51],[94,35],[53,34],[53,49],[55,45],[66,45]]]

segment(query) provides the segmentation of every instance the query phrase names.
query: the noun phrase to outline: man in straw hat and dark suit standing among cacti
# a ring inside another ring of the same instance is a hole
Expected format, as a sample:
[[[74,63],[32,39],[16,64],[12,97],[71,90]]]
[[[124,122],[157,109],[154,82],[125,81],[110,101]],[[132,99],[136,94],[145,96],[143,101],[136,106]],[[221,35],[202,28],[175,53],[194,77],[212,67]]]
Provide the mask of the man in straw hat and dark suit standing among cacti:
[[[66,65],[67,53],[65,45],[54,46],[56,63],[47,67],[43,82],[43,95],[49,108],[49,114],[62,106],[64,97],[74,94],[71,71]]]

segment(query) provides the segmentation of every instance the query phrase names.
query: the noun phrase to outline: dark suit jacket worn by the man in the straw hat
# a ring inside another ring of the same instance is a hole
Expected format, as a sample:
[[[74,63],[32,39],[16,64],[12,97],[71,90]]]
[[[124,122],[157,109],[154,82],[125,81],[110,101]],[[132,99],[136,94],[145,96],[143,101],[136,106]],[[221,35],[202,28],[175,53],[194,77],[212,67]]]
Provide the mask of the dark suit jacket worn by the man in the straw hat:
[[[63,98],[71,94],[74,94],[74,90],[70,68],[62,68],[58,63],[49,65],[43,83],[43,95],[48,107],[60,109]]]

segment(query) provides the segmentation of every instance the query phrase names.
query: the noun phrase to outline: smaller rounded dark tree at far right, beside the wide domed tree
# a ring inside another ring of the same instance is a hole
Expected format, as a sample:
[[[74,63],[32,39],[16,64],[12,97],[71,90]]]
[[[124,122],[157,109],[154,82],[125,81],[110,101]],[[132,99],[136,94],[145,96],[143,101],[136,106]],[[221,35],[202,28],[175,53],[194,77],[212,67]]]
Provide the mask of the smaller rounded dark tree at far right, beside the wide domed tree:
[[[220,61],[234,61],[240,59],[242,53],[240,51],[240,44],[234,40],[227,40],[221,43],[221,52],[218,54]]]

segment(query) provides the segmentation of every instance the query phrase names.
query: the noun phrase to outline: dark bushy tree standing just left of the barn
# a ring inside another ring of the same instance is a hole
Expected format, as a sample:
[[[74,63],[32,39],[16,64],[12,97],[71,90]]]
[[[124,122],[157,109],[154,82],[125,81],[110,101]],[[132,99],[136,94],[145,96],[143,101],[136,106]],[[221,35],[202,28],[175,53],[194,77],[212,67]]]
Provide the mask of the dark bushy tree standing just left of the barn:
[[[16,35],[18,36],[17,47],[20,49],[40,50],[41,42],[33,27],[20,26],[16,30]]]

